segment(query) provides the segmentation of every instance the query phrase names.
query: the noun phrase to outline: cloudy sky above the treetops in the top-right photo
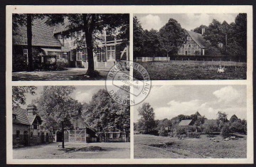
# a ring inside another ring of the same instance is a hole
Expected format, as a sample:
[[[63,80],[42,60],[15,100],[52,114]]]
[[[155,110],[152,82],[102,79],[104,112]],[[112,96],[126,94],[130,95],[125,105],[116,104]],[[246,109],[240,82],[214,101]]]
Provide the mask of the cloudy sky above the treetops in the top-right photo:
[[[182,28],[190,31],[198,26],[208,26],[213,18],[222,23],[227,21],[228,23],[235,22],[235,17],[238,14],[134,14],[139,19],[142,28],[150,30],[151,28],[159,31],[164,26],[169,18],[174,18],[181,24]]]

